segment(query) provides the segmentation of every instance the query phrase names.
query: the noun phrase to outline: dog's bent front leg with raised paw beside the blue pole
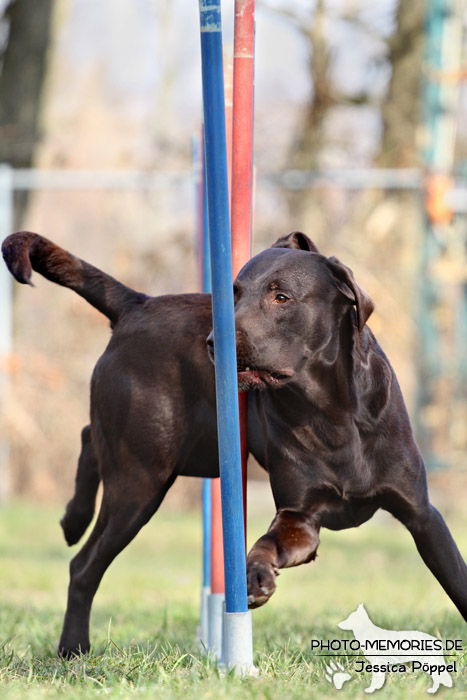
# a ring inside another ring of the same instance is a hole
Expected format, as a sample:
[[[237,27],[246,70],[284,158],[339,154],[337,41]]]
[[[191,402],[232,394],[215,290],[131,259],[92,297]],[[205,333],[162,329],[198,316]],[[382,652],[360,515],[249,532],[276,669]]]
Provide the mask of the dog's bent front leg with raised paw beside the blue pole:
[[[276,589],[279,569],[306,564],[316,557],[320,523],[316,516],[280,509],[269,530],[247,557],[248,607],[264,605]]]

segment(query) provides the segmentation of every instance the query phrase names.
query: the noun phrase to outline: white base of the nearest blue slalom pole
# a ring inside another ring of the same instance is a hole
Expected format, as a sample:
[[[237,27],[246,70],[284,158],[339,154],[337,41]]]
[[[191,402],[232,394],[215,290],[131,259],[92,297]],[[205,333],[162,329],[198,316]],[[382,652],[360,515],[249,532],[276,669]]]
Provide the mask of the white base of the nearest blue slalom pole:
[[[253,666],[253,635],[251,610],[241,613],[224,612],[223,663],[227,671],[235,675],[253,676],[258,670]]]

